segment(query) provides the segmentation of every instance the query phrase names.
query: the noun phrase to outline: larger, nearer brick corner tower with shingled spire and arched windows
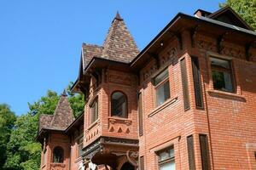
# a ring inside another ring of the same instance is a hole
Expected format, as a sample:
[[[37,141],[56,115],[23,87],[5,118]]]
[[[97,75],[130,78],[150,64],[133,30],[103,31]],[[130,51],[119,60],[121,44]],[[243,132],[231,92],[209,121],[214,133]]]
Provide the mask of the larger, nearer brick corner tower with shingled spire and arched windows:
[[[138,53],[119,13],[102,46],[83,43],[79,78],[72,90],[84,93],[86,101],[85,167],[137,167],[137,76],[129,63]]]

